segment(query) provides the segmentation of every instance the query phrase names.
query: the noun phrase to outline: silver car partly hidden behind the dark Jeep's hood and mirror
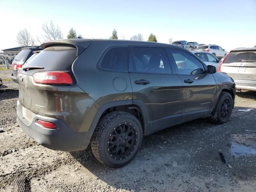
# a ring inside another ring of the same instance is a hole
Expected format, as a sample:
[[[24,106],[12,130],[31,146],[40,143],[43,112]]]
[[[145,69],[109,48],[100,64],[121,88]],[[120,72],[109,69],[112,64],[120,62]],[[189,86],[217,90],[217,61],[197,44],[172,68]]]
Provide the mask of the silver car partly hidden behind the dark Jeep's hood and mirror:
[[[220,59],[216,58],[213,54],[204,52],[204,51],[191,51],[196,56],[198,56],[206,65],[213,65],[218,70]]]

